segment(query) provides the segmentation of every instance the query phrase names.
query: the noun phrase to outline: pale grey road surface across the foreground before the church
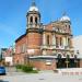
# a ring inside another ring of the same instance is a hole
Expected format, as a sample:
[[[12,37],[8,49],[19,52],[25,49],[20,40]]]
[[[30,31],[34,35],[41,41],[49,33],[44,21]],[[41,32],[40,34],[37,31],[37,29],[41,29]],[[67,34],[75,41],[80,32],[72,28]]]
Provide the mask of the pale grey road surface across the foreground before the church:
[[[82,82],[82,75],[61,75],[50,71],[34,74],[8,72],[5,77],[0,77],[0,82]]]

